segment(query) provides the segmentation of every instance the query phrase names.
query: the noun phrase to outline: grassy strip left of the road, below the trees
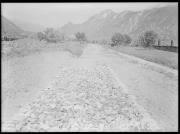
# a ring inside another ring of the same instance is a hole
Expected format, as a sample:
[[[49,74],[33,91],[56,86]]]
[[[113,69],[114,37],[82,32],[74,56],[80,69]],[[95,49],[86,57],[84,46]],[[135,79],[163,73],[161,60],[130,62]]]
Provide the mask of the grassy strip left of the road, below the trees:
[[[73,55],[80,56],[86,44],[79,42],[47,43],[35,39],[20,39],[2,42],[2,58],[21,57],[37,52],[68,51]]]

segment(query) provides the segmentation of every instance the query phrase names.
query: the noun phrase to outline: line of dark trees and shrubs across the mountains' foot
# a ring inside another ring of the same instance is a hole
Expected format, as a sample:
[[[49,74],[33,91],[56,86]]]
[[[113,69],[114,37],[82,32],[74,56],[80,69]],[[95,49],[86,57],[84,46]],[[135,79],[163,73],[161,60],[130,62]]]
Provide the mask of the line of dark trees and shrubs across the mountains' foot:
[[[8,34],[2,35],[2,41],[13,41],[18,40],[20,38],[29,37],[28,35],[21,36],[12,36]],[[79,41],[79,42],[92,42],[92,43],[100,43],[107,44],[112,47],[114,46],[136,46],[136,47],[153,47],[159,50],[178,52],[178,47],[174,45],[173,40],[168,42],[164,42],[160,39],[160,36],[152,30],[142,32],[137,37],[130,37],[128,34],[114,33],[112,35],[111,40],[88,40],[85,33],[77,32],[72,36],[66,36],[64,33],[61,33],[53,28],[47,28],[43,32],[37,32],[34,35],[31,35],[30,38],[37,40],[44,40],[51,43],[58,43],[64,41]]]

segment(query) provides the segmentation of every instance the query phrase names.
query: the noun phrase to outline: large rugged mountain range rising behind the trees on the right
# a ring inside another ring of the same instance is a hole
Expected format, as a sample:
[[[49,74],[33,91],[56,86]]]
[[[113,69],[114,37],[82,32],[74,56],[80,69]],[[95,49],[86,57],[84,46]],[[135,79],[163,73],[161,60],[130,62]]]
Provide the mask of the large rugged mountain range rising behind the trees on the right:
[[[102,11],[82,24],[68,23],[60,28],[65,34],[85,32],[89,40],[109,40],[116,32],[136,38],[141,32],[154,30],[166,41],[178,41],[178,6],[168,5],[143,11],[115,13],[110,9]]]

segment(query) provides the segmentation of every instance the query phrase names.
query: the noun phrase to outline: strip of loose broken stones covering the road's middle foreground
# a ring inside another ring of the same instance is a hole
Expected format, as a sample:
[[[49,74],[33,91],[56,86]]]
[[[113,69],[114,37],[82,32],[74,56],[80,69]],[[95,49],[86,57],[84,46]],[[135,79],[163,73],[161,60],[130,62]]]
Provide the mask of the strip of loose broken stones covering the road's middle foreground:
[[[61,67],[3,131],[158,131],[156,122],[113,78],[109,67]]]

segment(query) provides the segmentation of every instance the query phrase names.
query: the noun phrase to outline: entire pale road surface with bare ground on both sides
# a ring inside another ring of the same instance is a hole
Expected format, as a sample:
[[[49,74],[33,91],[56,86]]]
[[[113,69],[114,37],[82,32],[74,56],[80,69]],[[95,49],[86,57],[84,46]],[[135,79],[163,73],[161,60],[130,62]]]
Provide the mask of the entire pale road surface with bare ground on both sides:
[[[13,115],[3,119],[3,131],[177,131],[177,70],[98,44],[81,56],[37,57],[3,63],[3,84],[18,90],[3,103],[4,116]]]

